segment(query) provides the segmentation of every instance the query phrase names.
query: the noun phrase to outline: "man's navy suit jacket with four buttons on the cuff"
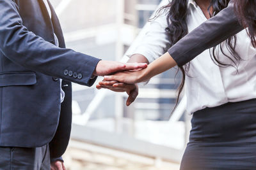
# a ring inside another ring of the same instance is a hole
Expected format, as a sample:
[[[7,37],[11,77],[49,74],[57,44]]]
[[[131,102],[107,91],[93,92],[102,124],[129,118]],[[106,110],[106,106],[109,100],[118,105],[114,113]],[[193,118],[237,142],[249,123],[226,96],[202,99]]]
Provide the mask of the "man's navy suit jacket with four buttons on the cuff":
[[[51,20],[42,0],[0,0],[0,9],[0,146],[51,142],[51,157],[60,157],[70,136],[70,81],[92,85],[99,59],[65,48],[56,13],[51,6]]]

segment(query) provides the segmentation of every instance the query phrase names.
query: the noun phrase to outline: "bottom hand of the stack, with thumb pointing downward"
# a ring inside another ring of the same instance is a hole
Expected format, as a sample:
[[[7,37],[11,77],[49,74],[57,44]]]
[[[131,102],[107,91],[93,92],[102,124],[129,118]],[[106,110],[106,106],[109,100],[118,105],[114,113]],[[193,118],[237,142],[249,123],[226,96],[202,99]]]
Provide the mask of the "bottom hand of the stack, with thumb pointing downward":
[[[96,85],[96,88],[109,89],[114,92],[126,92],[129,95],[126,101],[126,106],[129,106],[132,102],[134,102],[139,93],[138,85],[119,83],[118,81],[102,80],[98,85]]]

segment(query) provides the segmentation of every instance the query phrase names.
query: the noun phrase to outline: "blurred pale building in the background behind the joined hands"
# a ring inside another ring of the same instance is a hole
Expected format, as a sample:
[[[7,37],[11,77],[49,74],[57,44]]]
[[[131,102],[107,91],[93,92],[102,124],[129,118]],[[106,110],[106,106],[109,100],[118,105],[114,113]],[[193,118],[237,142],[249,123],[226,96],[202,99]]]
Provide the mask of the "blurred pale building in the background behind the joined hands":
[[[165,1],[165,0],[164,0]],[[168,0],[166,0],[168,1]],[[67,48],[103,60],[122,60],[140,43],[161,0],[51,0]],[[157,44],[156,44],[157,45]],[[185,99],[170,117],[179,74],[172,69],[126,94],[73,84],[73,125],[67,169],[179,169],[189,131]],[[102,80],[98,78],[97,81]]]

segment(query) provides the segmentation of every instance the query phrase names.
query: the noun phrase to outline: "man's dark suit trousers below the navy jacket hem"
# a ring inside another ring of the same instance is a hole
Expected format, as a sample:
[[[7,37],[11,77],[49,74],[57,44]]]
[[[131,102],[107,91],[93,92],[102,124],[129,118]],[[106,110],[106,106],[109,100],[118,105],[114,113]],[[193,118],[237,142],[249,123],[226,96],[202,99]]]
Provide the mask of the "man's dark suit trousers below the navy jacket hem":
[[[38,148],[0,147],[1,170],[50,170],[49,145]]]

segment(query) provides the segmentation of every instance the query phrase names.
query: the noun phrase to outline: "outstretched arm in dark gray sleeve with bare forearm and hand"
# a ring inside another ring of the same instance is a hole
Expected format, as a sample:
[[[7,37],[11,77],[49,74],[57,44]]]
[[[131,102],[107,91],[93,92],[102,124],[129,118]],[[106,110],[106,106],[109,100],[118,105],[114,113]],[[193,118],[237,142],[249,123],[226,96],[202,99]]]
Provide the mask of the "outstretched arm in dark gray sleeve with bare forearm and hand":
[[[234,11],[234,1],[230,1],[227,8],[180,39],[167,53],[149,64],[147,69],[138,72],[116,73],[104,78],[108,81],[116,80],[125,83],[138,83],[148,80],[152,76],[163,73],[176,65],[183,66],[207,48],[218,45],[243,29]]]

